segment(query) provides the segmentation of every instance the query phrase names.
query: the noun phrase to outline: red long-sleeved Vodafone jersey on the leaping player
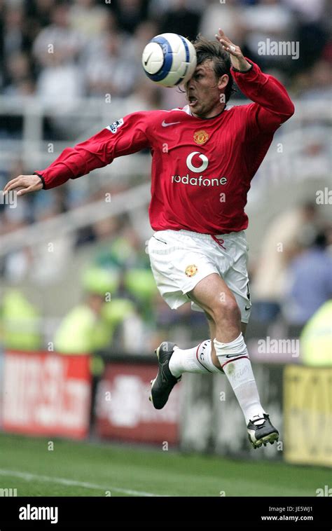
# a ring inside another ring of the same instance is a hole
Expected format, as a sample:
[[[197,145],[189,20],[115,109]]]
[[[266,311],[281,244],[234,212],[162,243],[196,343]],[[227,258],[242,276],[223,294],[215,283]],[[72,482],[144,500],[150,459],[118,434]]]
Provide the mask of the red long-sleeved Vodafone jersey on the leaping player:
[[[53,188],[116,157],[150,148],[148,212],[153,230],[223,234],[245,229],[251,179],[275,131],[294,111],[284,86],[252,65],[248,72],[232,69],[232,74],[254,103],[227,105],[214,118],[195,118],[189,106],[132,113],[65,149],[46,170],[36,173],[46,189]]]

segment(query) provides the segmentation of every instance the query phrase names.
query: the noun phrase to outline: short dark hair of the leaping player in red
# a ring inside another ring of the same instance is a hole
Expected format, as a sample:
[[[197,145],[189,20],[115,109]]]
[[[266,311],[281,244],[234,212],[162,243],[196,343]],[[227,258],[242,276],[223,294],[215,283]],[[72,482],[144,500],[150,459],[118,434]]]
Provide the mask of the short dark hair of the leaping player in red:
[[[217,41],[209,41],[200,34],[193,41],[193,46],[195,46],[198,65],[207,60],[212,60],[214,74],[216,74],[217,78],[220,78],[223,74],[228,75],[228,83],[225,88],[225,100],[228,102],[232,93],[235,92],[233,77],[230,74],[230,56],[221,48]]]

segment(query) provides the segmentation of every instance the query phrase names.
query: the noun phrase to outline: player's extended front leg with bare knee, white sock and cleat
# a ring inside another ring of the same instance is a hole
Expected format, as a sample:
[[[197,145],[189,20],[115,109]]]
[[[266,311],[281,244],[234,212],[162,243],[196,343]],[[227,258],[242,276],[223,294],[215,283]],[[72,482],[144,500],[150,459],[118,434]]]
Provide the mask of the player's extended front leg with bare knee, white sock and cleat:
[[[209,323],[214,323],[209,325],[212,338],[214,336],[214,364],[220,364],[235,392],[246,420],[249,440],[255,448],[273,443],[279,434],[261,406],[234,294],[219,275],[212,274],[202,279],[190,295],[209,315]]]

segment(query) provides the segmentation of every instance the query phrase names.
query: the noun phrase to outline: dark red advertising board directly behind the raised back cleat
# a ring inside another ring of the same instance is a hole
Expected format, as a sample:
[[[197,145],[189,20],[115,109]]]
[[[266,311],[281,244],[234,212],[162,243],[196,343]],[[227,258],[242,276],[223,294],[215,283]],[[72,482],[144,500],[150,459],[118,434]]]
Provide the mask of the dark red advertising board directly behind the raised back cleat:
[[[176,444],[181,384],[161,410],[148,400],[156,366],[110,363],[97,392],[99,436],[123,441]]]

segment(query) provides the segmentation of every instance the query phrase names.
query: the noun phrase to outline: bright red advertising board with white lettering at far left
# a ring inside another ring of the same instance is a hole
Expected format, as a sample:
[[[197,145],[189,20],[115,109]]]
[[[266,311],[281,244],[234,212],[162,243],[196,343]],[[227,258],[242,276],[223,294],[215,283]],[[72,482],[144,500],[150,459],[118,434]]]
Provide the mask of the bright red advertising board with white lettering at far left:
[[[89,427],[89,357],[5,352],[1,402],[4,430],[82,439]]]

